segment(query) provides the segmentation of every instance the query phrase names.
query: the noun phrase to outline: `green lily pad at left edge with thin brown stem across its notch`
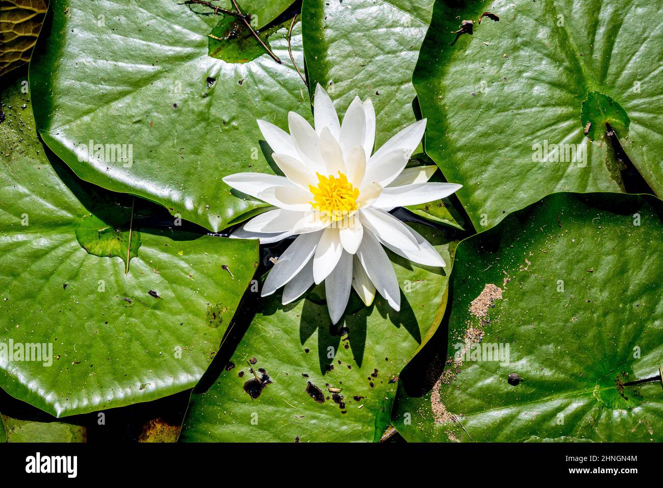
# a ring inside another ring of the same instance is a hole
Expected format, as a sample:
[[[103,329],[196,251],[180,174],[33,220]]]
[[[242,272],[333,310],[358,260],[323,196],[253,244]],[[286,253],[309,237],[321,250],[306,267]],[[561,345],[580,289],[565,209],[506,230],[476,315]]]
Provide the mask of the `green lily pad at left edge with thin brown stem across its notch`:
[[[255,272],[257,242],[192,232],[140,201],[132,225],[131,197],[49,162],[20,88],[5,92],[0,124],[0,386],[55,416],[191,388]],[[140,234],[128,272],[126,256],[84,248],[81,230],[101,223]]]

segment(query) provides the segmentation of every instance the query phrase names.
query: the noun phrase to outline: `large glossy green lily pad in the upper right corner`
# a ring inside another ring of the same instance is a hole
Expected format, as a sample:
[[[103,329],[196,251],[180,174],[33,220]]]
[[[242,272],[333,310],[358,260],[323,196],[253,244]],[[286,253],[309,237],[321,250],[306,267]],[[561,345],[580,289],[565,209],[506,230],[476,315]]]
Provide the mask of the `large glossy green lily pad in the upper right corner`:
[[[414,87],[477,230],[555,191],[663,195],[662,22],[641,1],[436,2]]]

